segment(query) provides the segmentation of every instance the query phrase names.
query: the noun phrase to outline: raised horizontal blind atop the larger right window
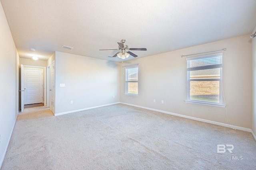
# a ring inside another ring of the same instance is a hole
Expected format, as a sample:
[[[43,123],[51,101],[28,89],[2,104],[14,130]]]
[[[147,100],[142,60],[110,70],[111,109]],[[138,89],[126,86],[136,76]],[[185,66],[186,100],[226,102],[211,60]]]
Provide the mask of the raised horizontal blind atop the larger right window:
[[[187,59],[188,71],[206,70],[211,68],[222,68],[222,53],[209,55],[208,57],[192,57]]]

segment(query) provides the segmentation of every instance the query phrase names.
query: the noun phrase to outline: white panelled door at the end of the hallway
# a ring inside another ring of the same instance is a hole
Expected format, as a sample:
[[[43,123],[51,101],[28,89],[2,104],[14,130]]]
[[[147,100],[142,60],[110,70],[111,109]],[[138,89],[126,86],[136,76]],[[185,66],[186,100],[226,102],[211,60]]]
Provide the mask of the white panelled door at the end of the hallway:
[[[24,104],[42,103],[42,76],[42,70],[24,68]]]

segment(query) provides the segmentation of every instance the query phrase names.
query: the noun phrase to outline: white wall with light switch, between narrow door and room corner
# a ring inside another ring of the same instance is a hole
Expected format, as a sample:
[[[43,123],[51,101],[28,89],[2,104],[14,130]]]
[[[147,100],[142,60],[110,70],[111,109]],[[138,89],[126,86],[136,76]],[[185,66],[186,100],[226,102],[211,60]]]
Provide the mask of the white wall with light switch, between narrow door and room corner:
[[[119,65],[56,51],[55,114],[119,102]]]

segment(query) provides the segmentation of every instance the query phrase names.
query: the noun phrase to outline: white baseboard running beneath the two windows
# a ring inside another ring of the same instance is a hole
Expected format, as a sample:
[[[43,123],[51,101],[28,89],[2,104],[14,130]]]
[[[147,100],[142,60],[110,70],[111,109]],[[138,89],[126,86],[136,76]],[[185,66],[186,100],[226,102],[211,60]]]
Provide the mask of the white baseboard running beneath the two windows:
[[[125,104],[125,105],[129,105],[129,106],[139,107],[139,108],[142,108],[142,109],[148,109],[148,110],[152,110],[152,111],[158,111],[160,113],[166,113],[166,114],[169,114],[169,115],[174,115],[174,116],[184,117],[184,118],[192,119],[192,120],[196,120],[196,121],[202,121],[202,122],[206,122],[206,123],[211,123],[211,124],[214,124],[214,125],[230,127],[232,129],[238,129],[238,130],[241,130],[241,131],[252,132],[252,129],[248,129],[248,128],[245,128],[245,127],[228,125],[228,124],[225,124],[225,123],[219,123],[219,122],[216,122],[216,121],[210,121],[210,120],[206,120],[206,119],[200,119],[200,118],[196,118],[196,117],[180,115],[180,114],[177,114],[177,113],[172,113],[172,112],[158,110],[158,109],[152,109],[152,108],[149,108],[149,107],[137,106],[137,105],[134,105],[134,104],[127,104],[127,103],[122,103],[122,102],[120,102],[120,104]],[[256,139],[255,136],[254,136],[254,139]]]

